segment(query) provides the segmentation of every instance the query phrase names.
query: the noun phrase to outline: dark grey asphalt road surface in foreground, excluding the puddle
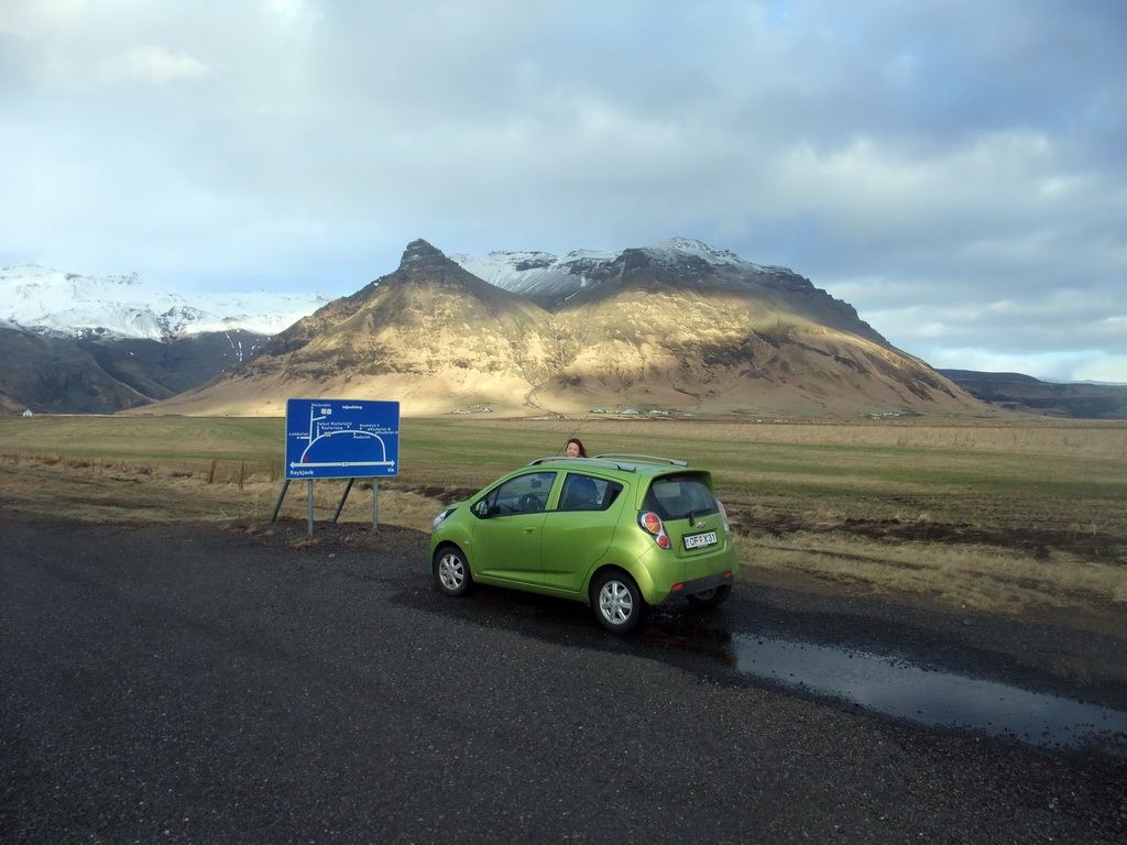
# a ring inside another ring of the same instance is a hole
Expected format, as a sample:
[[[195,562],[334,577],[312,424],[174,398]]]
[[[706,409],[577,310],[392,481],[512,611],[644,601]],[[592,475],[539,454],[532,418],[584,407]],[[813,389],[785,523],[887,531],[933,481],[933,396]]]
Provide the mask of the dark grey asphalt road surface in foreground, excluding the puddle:
[[[854,611],[791,615],[849,635]],[[937,733],[738,677],[733,625],[787,617],[745,590],[614,638],[577,604],[440,596],[412,532],[300,548],[9,515],[0,840],[1127,839],[1121,758]]]

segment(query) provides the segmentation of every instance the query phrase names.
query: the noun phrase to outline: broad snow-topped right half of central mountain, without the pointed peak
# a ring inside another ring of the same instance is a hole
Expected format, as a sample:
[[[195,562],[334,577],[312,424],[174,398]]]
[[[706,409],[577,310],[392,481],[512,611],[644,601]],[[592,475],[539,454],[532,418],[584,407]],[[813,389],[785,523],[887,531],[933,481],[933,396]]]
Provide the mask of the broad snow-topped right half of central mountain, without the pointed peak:
[[[570,348],[534,394],[543,407],[613,401],[755,417],[982,410],[808,279],[700,241],[573,254],[534,269],[522,258],[508,274],[500,254],[491,260],[494,284],[552,304],[550,285],[554,297],[553,331]],[[532,274],[543,279],[536,286]]]

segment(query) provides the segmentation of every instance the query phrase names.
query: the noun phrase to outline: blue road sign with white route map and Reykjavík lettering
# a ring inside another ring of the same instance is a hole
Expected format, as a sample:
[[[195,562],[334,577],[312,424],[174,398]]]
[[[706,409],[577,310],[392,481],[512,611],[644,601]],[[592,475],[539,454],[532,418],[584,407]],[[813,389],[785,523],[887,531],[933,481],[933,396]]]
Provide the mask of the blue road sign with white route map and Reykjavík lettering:
[[[291,399],[285,407],[287,479],[399,473],[399,402]]]

